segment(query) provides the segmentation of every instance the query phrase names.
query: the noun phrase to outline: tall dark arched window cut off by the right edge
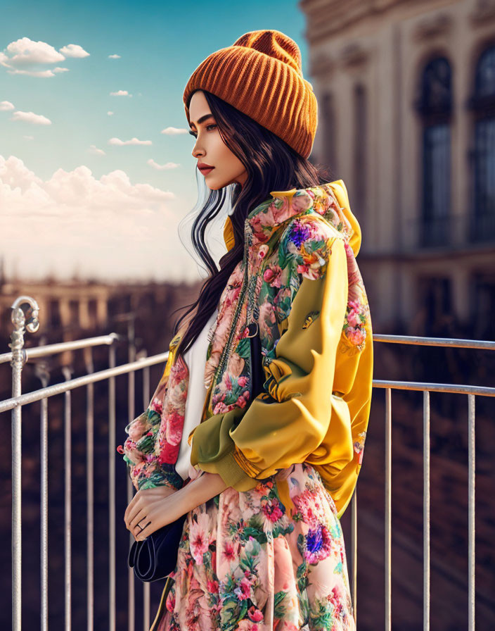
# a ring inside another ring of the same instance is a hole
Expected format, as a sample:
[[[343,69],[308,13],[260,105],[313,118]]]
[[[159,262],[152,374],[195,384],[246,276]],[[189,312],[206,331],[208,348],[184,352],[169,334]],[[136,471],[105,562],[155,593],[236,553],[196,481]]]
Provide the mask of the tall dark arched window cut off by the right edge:
[[[495,45],[480,55],[474,88],[469,102],[474,116],[474,215],[469,224],[470,239],[482,241],[495,236]]]

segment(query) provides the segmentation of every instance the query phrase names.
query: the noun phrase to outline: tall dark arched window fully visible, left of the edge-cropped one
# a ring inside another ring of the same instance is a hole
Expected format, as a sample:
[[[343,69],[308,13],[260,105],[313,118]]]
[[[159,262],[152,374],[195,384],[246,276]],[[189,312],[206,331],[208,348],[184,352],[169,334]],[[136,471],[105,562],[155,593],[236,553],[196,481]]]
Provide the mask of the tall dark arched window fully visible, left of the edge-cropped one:
[[[423,123],[423,199],[420,244],[448,244],[451,187],[451,67],[444,57],[428,62],[416,109]]]

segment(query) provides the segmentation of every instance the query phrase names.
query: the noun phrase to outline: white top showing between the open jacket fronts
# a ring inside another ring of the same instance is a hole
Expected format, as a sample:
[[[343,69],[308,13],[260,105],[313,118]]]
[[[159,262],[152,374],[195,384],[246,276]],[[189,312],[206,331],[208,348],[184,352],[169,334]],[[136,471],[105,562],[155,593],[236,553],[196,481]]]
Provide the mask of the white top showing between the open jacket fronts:
[[[186,399],[186,412],[184,416],[184,429],[182,430],[181,446],[179,448],[179,456],[175,464],[176,472],[179,473],[183,480],[187,477],[194,479],[198,472],[191,465],[191,446],[187,444],[189,434],[196,425],[199,425],[201,413],[205,404],[207,388],[205,387],[205,364],[206,354],[210,340],[208,332],[217,319],[218,309],[210,316],[200,335],[195,339],[191,348],[184,354],[184,361],[189,370],[189,383]],[[189,471],[191,467],[191,471]]]

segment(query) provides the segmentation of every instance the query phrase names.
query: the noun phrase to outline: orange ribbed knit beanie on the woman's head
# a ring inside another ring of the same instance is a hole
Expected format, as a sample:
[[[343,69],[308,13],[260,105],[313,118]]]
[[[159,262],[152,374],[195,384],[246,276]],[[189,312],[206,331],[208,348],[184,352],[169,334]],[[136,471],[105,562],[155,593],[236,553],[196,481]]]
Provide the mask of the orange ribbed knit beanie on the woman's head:
[[[204,89],[224,99],[308,158],[318,125],[311,83],[302,76],[301,52],[276,30],[245,33],[198,65],[184,89],[189,119],[193,92]]]

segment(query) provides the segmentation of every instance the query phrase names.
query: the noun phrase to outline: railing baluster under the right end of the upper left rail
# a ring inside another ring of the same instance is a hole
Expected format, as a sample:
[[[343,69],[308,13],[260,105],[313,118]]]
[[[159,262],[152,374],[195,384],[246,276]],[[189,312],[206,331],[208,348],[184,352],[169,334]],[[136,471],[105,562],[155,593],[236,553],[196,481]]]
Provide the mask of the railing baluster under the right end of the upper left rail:
[[[115,344],[108,363],[115,367]],[[115,631],[115,377],[108,380],[108,631]]]

